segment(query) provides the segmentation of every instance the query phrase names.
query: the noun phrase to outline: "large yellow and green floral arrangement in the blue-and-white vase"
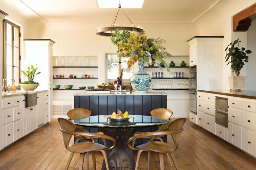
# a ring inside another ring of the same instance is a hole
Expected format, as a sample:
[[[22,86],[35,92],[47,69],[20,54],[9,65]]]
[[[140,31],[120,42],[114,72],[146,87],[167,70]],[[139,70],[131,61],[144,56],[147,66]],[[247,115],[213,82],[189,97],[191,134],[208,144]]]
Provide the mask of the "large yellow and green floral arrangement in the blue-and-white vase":
[[[149,65],[158,61],[170,72],[165,58],[172,55],[165,51],[162,46],[166,41],[163,39],[148,38],[147,35],[137,35],[129,31],[119,32],[117,28],[114,33],[115,37],[110,37],[111,42],[118,47],[117,52],[121,57],[129,57],[127,67],[130,68],[135,62],[141,60]],[[162,67],[159,66],[161,69]]]

